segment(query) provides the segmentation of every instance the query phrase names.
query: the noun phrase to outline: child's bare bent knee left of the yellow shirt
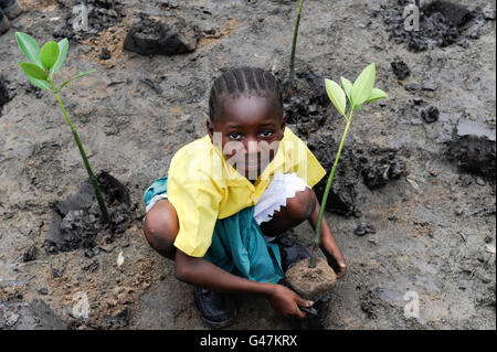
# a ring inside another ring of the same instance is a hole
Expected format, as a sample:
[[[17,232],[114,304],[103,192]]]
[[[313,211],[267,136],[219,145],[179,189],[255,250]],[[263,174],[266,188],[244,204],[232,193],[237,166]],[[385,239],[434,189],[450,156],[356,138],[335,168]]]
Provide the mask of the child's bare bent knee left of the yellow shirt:
[[[145,237],[154,249],[172,260],[176,254],[173,243],[178,228],[178,214],[168,200],[158,201],[147,212],[144,224]]]

